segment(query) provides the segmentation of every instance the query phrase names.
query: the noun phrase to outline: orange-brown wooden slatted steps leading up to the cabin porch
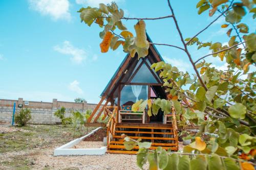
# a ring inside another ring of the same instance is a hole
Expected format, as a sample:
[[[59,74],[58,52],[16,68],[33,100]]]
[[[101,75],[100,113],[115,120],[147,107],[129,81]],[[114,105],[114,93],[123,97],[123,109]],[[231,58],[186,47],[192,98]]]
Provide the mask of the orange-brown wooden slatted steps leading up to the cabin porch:
[[[132,139],[142,139],[152,142],[152,150],[162,147],[165,150],[178,151],[178,140],[174,136],[172,124],[135,124],[117,123],[114,128],[114,135],[108,143],[108,153],[113,154],[136,154],[139,150],[138,145],[131,151],[125,150],[122,134]]]

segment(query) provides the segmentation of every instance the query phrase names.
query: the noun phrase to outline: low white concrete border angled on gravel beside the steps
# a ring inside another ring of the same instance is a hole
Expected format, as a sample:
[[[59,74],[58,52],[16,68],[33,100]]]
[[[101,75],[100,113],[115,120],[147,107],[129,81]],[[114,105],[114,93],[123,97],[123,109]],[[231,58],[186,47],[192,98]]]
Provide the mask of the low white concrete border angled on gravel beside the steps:
[[[105,154],[106,147],[95,148],[95,149],[71,149],[75,144],[79,143],[84,138],[91,136],[99,129],[101,129],[101,127],[94,129],[92,132],[88,133],[85,136],[74,139],[74,140],[62,145],[61,147],[56,148],[54,150],[53,155],[60,156],[60,155],[103,155],[103,154]]]

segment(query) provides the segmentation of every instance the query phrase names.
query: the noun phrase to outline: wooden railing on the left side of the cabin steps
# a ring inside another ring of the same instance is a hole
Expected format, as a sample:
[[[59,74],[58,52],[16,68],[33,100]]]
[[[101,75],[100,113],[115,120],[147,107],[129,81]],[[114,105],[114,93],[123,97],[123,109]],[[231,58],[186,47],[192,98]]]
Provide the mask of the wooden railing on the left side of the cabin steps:
[[[117,106],[106,106],[104,108],[105,113],[109,116],[108,124],[106,124],[106,142],[109,147],[109,143],[115,135],[116,123],[118,120],[118,107]]]

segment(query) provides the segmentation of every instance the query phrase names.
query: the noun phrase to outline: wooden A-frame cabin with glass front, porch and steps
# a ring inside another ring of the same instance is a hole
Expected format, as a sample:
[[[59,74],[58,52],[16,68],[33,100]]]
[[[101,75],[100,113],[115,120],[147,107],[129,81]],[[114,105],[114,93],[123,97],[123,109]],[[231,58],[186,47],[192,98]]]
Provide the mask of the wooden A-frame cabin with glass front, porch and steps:
[[[152,42],[147,35],[147,40]],[[137,55],[137,54],[136,54]],[[88,124],[95,124],[101,114],[108,117],[106,125],[108,152],[135,154],[138,147],[126,151],[121,134],[133,139],[151,141],[152,149],[158,146],[173,151],[178,150],[178,136],[175,113],[164,115],[161,109],[156,116],[148,116],[147,111],[133,112],[131,106],[138,100],[166,99],[167,94],[159,77],[150,67],[153,63],[163,61],[156,47],[150,44],[148,55],[140,58],[126,55],[114,76],[101,93],[101,100],[88,119]],[[103,101],[106,101],[100,108]],[[110,106],[108,105],[110,103]]]

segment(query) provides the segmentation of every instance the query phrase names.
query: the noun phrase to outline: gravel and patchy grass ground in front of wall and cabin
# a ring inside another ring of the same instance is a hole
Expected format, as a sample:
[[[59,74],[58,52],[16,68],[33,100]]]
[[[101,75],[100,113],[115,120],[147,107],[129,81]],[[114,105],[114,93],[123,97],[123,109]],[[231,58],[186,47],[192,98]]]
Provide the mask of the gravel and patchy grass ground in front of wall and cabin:
[[[0,169],[139,169],[135,155],[53,156],[55,148],[73,138],[71,127],[0,123]]]

